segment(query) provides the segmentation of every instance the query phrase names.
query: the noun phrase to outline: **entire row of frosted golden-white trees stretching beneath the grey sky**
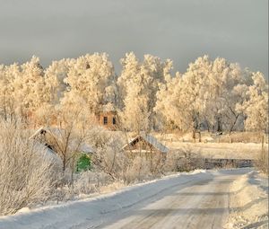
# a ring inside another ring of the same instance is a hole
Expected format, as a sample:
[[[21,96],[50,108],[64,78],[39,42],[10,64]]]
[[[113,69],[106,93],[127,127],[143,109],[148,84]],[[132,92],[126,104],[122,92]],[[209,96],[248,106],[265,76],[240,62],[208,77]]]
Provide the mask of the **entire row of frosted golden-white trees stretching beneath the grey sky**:
[[[121,127],[133,131],[268,131],[268,84],[260,72],[208,56],[175,75],[171,60],[151,55],[142,61],[127,53],[120,63],[120,75],[106,53],[53,61],[46,69],[39,57],[2,65],[0,115],[49,125],[78,110],[89,119],[117,110]]]

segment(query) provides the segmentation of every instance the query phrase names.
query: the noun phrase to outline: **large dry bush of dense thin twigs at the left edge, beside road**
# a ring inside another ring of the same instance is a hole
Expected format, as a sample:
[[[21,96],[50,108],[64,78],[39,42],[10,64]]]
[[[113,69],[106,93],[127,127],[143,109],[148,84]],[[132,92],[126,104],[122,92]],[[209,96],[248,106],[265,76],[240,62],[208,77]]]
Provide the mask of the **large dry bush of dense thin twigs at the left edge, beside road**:
[[[50,198],[56,167],[21,124],[1,121],[0,128],[0,215],[8,215]]]

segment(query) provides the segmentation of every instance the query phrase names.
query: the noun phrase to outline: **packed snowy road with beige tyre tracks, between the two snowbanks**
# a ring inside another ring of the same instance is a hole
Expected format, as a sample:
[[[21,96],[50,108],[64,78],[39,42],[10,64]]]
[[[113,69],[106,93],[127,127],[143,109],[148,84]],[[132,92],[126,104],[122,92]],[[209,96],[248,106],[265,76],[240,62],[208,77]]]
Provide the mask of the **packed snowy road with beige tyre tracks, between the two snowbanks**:
[[[219,229],[229,216],[230,183],[241,172],[216,172],[210,179],[176,186],[163,198],[119,216],[104,228]]]

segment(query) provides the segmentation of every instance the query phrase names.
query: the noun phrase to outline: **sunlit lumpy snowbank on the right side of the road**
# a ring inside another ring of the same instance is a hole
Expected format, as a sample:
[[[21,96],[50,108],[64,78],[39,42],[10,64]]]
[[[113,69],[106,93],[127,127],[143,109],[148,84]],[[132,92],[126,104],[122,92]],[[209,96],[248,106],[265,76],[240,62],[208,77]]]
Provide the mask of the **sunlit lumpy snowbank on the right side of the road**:
[[[249,172],[230,187],[230,217],[225,228],[268,228],[268,178]]]

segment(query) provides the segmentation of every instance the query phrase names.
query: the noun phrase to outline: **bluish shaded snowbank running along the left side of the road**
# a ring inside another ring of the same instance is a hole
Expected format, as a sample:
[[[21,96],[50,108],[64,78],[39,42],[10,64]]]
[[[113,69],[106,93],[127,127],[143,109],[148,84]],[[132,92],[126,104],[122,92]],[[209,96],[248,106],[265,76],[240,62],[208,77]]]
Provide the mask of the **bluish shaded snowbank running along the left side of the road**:
[[[0,228],[76,228],[83,225],[96,226],[105,222],[108,216],[120,214],[120,210],[137,204],[147,204],[162,198],[173,188],[178,189],[195,181],[212,180],[210,172],[196,171],[170,175],[161,180],[149,181],[126,187],[98,198],[78,200],[54,207],[40,207],[22,211],[14,216],[0,217]]]

